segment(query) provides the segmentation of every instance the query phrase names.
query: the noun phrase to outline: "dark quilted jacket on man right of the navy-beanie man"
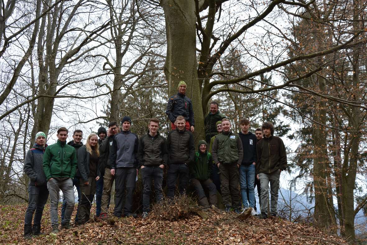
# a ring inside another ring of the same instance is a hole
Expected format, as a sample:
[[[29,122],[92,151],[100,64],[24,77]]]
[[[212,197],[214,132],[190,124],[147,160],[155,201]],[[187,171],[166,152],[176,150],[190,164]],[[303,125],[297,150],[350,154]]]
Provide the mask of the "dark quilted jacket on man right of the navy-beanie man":
[[[139,168],[141,166],[159,166],[161,164],[167,167],[167,158],[166,139],[159,133],[152,137],[148,131],[147,134],[139,139]]]

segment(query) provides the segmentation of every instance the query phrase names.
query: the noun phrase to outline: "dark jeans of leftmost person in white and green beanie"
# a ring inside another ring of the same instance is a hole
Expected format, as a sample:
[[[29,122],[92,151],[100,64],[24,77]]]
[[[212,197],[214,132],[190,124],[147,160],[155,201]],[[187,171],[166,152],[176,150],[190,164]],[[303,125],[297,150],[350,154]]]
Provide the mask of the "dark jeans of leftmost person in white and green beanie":
[[[41,186],[28,186],[28,208],[25,212],[24,226],[41,226],[41,218],[43,213],[43,208],[47,202],[48,190],[46,185]]]

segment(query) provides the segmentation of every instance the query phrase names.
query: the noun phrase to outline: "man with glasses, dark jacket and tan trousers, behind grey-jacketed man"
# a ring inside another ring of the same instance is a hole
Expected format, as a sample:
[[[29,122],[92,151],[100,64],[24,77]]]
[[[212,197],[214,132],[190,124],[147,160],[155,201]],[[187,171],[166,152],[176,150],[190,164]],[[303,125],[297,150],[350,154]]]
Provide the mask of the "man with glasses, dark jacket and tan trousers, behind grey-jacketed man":
[[[101,154],[105,154],[105,158],[107,159],[105,174],[103,176],[103,192],[102,192],[102,201],[101,201],[101,219],[108,219],[108,208],[111,199],[111,190],[113,181],[115,180],[115,176],[111,174],[111,169],[114,163],[111,162],[109,156],[113,151],[112,142],[113,136],[119,133],[119,125],[117,122],[110,122],[107,130],[107,137],[103,140],[101,147],[99,149]]]

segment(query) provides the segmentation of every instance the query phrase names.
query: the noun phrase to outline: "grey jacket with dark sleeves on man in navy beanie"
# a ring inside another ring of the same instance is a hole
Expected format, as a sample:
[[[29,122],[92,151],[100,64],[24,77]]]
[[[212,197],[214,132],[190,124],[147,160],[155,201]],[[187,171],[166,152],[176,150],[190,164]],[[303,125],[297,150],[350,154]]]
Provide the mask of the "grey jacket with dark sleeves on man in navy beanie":
[[[115,134],[112,141],[110,161],[112,169],[117,167],[138,167],[138,136],[131,131],[123,131]]]

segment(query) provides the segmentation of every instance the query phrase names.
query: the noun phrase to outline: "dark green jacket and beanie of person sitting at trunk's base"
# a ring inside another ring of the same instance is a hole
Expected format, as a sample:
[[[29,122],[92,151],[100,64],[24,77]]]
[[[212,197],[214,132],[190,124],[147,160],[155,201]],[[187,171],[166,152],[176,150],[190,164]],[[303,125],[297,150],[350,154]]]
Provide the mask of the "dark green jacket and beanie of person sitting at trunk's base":
[[[197,180],[207,180],[210,178],[213,160],[211,154],[206,150],[205,153],[200,152],[200,145],[208,144],[204,140],[200,140],[197,145],[197,151],[195,151],[194,162],[189,165],[190,178]]]

